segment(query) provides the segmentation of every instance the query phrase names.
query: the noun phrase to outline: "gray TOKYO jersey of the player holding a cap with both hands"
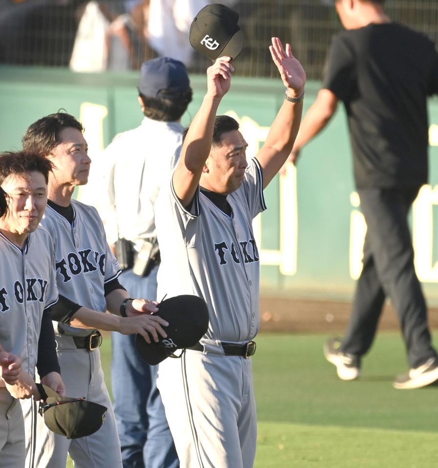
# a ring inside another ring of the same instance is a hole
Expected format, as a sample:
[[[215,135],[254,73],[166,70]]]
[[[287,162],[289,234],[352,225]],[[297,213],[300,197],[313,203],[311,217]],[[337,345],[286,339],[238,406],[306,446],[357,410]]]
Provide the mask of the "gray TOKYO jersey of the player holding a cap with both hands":
[[[55,243],[58,291],[73,302],[95,311],[106,311],[104,284],[120,274],[119,263],[106,242],[97,210],[71,200],[74,221],[47,205],[41,221]],[[89,331],[54,322],[55,332],[83,336]]]

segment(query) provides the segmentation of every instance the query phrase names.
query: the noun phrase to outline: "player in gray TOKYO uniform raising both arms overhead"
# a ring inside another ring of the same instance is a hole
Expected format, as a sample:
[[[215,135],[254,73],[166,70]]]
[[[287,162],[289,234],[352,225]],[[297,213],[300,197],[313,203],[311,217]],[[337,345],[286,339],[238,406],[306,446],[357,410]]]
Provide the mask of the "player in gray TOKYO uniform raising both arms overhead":
[[[265,144],[249,163],[238,123],[215,117],[233,67],[222,57],[207,70],[207,94],[193,118],[171,182],[155,208],[161,249],[158,297],[197,294],[209,330],[181,359],[159,365],[158,388],[183,467],[252,467],[256,410],[252,341],[259,327],[259,252],[252,219],[298,132],[306,76],[278,38],[272,59],[286,98]],[[176,275],[175,272],[178,274]]]

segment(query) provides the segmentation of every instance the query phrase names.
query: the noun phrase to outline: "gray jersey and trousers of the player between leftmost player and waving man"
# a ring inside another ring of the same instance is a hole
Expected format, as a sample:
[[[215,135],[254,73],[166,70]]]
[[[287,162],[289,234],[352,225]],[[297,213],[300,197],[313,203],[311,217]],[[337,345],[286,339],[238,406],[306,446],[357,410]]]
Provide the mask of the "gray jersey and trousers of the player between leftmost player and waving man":
[[[72,200],[73,225],[53,208],[47,206],[41,224],[51,234],[55,244],[56,280],[60,294],[84,307],[106,311],[104,284],[120,274],[119,264],[106,242],[104,227],[97,211]],[[104,383],[99,349],[77,349],[74,336],[86,336],[89,330],[76,329],[54,322],[57,354],[66,394],[85,397],[108,408],[101,429],[81,439],[69,440],[54,434],[36,418],[36,406],[26,411],[27,429],[35,429],[34,438],[28,431],[27,466],[64,467],[67,451],[77,468],[122,467],[120,443],[114,412]]]

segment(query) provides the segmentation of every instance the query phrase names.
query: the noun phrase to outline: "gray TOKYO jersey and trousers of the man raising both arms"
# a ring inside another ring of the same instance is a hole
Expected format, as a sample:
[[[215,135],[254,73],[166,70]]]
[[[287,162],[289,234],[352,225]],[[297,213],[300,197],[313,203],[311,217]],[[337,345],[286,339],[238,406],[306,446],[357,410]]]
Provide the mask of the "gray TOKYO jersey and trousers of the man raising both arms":
[[[241,187],[227,197],[231,216],[199,190],[186,210],[172,183],[156,203],[158,298],[196,294],[209,307],[204,351],[187,350],[181,360],[159,366],[158,388],[182,467],[247,468],[254,461],[251,361],[225,356],[221,341],[243,344],[258,331],[259,254],[252,219],[266,208],[262,187],[254,158]]]

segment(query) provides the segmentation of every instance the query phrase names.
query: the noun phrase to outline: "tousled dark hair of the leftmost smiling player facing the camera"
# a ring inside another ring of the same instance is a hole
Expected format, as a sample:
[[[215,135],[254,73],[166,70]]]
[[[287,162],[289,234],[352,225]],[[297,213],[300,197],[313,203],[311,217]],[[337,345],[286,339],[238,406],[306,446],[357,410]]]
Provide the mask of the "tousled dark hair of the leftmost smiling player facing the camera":
[[[29,172],[41,172],[45,183],[49,181],[52,163],[42,155],[26,151],[0,153],[0,184],[11,175],[23,176]]]

